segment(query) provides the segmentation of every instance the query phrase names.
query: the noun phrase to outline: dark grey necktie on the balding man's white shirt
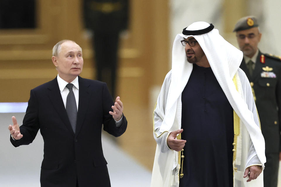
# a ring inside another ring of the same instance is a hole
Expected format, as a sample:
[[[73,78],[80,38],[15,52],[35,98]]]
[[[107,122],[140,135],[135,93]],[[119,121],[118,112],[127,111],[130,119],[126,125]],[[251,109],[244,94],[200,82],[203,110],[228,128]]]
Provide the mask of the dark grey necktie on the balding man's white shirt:
[[[75,134],[76,129],[76,120],[77,120],[77,105],[75,96],[72,90],[73,84],[69,83],[66,85],[66,88],[69,89],[69,93],[66,98],[66,113],[69,119],[69,122],[71,124],[71,127],[73,129],[73,132]]]

